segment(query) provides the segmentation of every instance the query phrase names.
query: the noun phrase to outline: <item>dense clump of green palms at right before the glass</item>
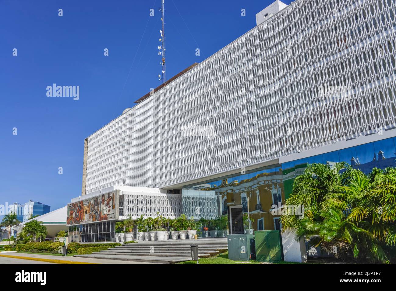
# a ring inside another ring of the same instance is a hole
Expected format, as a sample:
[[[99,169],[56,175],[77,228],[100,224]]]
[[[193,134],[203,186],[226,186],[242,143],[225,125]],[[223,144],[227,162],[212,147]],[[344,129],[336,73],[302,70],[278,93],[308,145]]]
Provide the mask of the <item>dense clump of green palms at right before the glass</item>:
[[[284,229],[297,229],[336,257],[389,263],[396,244],[396,169],[374,168],[366,176],[345,163],[310,164],[295,178],[287,205],[304,205],[305,215],[283,215]]]

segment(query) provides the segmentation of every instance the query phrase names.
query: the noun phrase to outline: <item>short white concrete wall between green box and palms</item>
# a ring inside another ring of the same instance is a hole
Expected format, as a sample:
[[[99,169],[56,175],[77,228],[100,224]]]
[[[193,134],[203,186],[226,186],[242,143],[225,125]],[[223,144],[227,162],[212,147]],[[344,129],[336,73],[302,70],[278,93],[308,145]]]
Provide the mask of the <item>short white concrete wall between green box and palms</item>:
[[[295,240],[295,231],[282,233],[282,246],[285,262],[307,263],[307,249],[304,240]]]

